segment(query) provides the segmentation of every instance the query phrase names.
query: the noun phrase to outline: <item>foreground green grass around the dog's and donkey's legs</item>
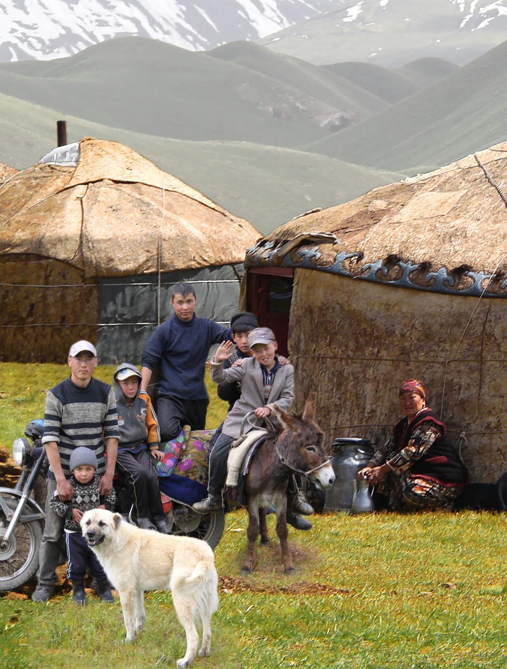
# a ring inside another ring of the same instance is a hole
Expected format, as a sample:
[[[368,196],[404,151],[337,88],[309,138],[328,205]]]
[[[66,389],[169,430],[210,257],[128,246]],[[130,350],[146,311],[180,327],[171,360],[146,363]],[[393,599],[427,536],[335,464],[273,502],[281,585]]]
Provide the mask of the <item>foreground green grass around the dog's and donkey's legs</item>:
[[[273,539],[273,516],[269,518]],[[417,668],[507,666],[507,577],[502,515],[423,513],[316,517],[291,530],[297,575],[279,549],[258,549],[238,576],[246,514],[228,514],[216,548],[220,610],[212,656],[196,668]],[[82,611],[69,595],[47,605],[0,600],[0,658],[12,668],[174,666],[184,634],[170,595],[146,595],[146,630],[122,645],[118,599]]]

